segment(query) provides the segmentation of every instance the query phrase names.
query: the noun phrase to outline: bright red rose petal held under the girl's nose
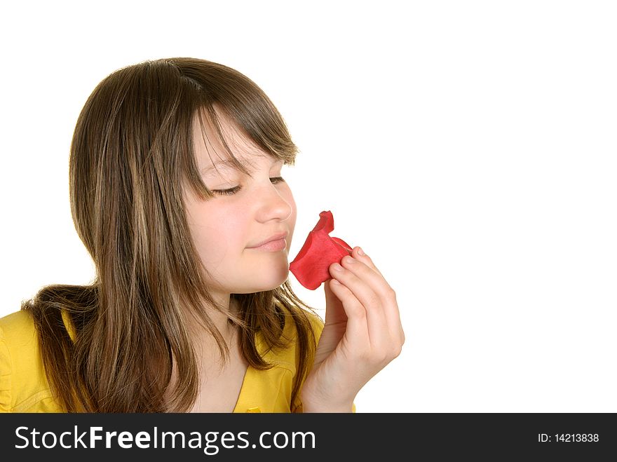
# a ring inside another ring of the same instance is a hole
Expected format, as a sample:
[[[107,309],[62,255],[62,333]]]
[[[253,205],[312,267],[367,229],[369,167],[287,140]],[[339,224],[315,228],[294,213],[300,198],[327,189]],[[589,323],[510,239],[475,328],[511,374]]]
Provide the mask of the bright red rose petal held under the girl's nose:
[[[328,268],[351,254],[352,247],[344,240],[329,236],[334,231],[334,217],[330,210],[319,214],[319,221],[308,233],[304,245],[290,264],[290,271],[308,290],[316,290],[331,279]]]

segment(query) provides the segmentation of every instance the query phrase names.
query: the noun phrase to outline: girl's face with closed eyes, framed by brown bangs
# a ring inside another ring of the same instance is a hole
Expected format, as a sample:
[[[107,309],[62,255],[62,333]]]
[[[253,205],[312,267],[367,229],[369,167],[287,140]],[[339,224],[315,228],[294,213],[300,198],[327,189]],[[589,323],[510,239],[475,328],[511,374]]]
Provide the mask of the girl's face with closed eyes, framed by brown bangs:
[[[193,130],[197,162],[203,182],[215,197],[201,201],[189,193],[186,201],[191,235],[212,276],[208,280],[211,291],[248,294],[272,290],[289,276],[288,253],[296,224],[292,191],[280,179],[283,161],[276,161],[255,146],[222,111],[217,114],[229,148],[252,170],[252,178],[231,165],[213,168],[213,161],[225,161],[229,154],[208,124],[204,140],[196,119]],[[255,248],[280,233],[287,234],[280,250]]]

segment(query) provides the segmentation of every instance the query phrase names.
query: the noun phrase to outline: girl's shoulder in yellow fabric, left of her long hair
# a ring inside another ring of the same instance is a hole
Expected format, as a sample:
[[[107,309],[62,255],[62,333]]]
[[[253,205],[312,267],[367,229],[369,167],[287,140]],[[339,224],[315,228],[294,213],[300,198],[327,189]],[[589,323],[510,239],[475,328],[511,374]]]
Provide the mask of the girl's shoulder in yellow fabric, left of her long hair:
[[[54,412],[34,320],[27,311],[0,318],[0,412]]]

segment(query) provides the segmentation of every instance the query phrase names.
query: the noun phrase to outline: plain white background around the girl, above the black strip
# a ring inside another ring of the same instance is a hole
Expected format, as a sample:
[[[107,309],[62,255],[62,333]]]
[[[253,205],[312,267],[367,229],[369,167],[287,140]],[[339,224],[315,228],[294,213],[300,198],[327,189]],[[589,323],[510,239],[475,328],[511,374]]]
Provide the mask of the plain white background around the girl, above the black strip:
[[[261,86],[301,149],[290,257],[331,210],[397,293],[407,342],[358,412],[617,412],[613,5],[4,2],[0,315],[94,276],[68,158],[96,84],[200,57]]]

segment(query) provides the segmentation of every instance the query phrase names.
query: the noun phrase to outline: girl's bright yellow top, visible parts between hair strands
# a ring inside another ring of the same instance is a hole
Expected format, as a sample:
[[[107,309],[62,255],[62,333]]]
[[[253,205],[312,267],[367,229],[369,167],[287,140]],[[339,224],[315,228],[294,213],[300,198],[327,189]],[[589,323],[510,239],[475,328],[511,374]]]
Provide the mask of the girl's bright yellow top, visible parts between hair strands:
[[[65,325],[70,325],[62,314]],[[308,315],[319,338],[323,321]],[[285,334],[290,334],[290,329],[295,330],[293,323],[285,322]],[[257,348],[263,354],[260,335]],[[295,344],[279,354],[267,352],[264,359],[275,366],[264,371],[248,366],[233,412],[290,412],[297,366]],[[296,405],[301,412],[301,403]],[[34,321],[27,311],[0,318],[0,412],[63,412],[50,391]]]

